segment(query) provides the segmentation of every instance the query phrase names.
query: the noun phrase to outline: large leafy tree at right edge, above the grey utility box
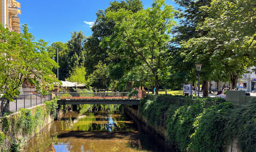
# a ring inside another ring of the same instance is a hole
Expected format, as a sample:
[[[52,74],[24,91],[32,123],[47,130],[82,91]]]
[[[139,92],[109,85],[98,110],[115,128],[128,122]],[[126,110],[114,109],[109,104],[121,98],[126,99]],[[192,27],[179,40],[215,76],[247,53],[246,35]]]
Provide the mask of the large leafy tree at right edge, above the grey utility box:
[[[217,75],[229,75],[232,87],[247,69],[255,66],[256,27],[253,0],[212,0],[202,6],[209,17],[197,24],[197,30],[208,31],[200,38],[182,42],[189,49],[186,57],[207,60]],[[226,75],[224,76],[226,77]]]

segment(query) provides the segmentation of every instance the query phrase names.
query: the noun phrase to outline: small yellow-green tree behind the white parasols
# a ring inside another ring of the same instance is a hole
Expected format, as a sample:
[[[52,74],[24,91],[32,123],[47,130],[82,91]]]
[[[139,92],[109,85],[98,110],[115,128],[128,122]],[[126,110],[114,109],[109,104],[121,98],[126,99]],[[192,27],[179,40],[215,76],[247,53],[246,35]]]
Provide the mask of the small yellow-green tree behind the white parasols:
[[[66,79],[67,81],[76,82],[76,83],[86,83],[85,79],[86,69],[83,64],[80,66],[76,65],[72,68],[72,71],[69,71],[69,77]]]

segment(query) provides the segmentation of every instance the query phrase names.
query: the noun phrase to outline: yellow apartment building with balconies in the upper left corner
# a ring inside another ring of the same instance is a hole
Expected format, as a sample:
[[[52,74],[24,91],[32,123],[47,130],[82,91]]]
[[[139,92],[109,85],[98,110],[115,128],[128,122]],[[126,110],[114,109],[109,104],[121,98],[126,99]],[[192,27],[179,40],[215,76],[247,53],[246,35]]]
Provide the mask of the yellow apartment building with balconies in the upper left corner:
[[[0,21],[3,26],[20,33],[20,3],[15,0],[0,0]]]

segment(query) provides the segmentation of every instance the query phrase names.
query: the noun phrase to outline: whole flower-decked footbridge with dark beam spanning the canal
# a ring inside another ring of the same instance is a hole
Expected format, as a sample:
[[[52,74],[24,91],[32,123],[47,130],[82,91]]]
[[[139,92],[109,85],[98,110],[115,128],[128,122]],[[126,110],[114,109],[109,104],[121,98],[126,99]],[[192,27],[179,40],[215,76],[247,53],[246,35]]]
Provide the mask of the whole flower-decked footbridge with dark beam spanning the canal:
[[[56,96],[58,104],[60,105],[139,105],[142,92],[138,94],[131,94],[131,92],[58,92],[52,93],[52,96]]]

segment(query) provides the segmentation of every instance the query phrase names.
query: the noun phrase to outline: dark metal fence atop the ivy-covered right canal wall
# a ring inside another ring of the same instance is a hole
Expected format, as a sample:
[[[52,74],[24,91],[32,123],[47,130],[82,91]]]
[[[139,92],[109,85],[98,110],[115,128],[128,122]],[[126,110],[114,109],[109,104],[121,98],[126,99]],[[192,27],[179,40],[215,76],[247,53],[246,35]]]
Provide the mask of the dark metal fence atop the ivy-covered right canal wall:
[[[195,100],[195,99],[171,97],[171,96],[158,96],[158,97],[164,99],[165,101],[169,101],[169,103],[171,103],[171,104],[177,104],[177,105],[186,105],[186,104],[192,105],[192,104],[198,103],[198,101]],[[220,104],[218,102],[204,101],[204,100],[203,100],[203,103],[204,103],[205,107],[210,107],[210,106],[213,106],[213,105],[219,105]],[[242,107],[242,105],[234,105],[234,107],[240,108],[240,107]]]

